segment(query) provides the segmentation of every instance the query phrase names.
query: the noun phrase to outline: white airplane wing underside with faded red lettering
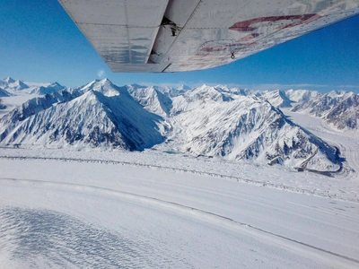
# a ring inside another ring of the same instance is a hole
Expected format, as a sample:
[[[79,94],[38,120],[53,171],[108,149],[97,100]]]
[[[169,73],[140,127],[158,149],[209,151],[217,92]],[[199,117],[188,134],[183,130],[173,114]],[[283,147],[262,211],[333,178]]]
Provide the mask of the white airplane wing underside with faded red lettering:
[[[359,13],[359,0],[58,0],[113,72],[232,63]]]

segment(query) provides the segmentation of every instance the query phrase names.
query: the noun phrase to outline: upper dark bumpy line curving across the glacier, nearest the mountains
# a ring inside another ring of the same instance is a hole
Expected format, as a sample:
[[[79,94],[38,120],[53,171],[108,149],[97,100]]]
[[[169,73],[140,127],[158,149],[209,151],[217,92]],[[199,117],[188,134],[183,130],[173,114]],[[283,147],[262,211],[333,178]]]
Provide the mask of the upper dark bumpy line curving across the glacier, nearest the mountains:
[[[0,156],[0,159],[4,160],[45,160],[45,161],[77,161],[77,162],[92,162],[92,163],[103,163],[103,164],[119,164],[119,165],[128,165],[132,167],[143,167],[143,168],[156,168],[156,169],[162,169],[166,171],[171,172],[184,172],[184,173],[190,173],[190,174],[196,174],[196,175],[202,175],[202,176],[209,176],[212,178],[223,178],[223,179],[229,179],[241,183],[248,183],[260,187],[271,187],[276,188],[279,190],[285,190],[293,193],[303,194],[303,195],[314,195],[314,196],[320,196],[325,197],[329,199],[338,199],[342,201],[350,201],[359,203],[359,199],[355,198],[345,198],[343,196],[337,195],[337,194],[328,194],[328,193],[320,193],[316,189],[315,190],[309,190],[309,189],[303,189],[300,187],[289,187],[285,186],[284,184],[275,184],[270,183],[267,181],[259,181],[254,179],[248,179],[248,178],[240,178],[240,177],[234,177],[234,176],[227,176],[227,175],[221,175],[217,173],[211,173],[211,172],[205,172],[205,171],[197,171],[193,169],[180,169],[180,168],[173,168],[173,167],[167,167],[167,166],[161,166],[161,165],[155,165],[155,164],[145,164],[145,163],[136,163],[136,162],[129,162],[129,161],[108,161],[108,160],[96,160],[96,159],[76,159],[76,158],[56,158],[56,157],[29,157],[29,156]]]

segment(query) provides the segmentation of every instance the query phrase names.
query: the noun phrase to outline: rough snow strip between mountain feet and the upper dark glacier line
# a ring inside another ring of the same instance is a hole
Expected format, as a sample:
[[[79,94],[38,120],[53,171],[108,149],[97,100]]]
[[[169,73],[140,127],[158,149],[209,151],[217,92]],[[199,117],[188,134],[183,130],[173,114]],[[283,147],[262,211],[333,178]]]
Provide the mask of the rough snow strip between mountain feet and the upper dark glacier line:
[[[346,152],[344,153],[346,154]],[[355,171],[335,178],[311,172],[297,172],[279,165],[268,166],[252,161],[225,161],[221,158],[193,158],[183,153],[156,150],[124,152],[83,149],[14,149],[0,148],[0,159],[57,160],[109,163],[162,169],[176,173],[207,175],[260,187],[272,187],[307,195],[319,195],[359,202],[358,177]]]

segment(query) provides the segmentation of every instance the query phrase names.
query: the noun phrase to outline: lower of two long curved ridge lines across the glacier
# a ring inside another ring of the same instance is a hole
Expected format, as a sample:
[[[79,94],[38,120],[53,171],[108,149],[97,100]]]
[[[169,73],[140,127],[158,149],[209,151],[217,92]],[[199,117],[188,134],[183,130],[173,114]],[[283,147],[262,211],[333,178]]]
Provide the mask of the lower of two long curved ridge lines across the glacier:
[[[157,206],[157,207],[161,206],[161,207],[166,208],[167,210],[175,210],[176,212],[179,212],[179,210],[180,210],[181,213],[184,213],[186,215],[191,215],[193,218],[198,218],[201,221],[207,221],[212,224],[221,225],[222,227],[226,226],[228,229],[241,230],[242,232],[248,233],[248,234],[255,236],[259,239],[266,239],[268,241],[276,242],[276,243],[280,243],[280,244],[283,244],[283,242],[277,241],[277,240],[284,239],[285,242],[287,242],[287,243],[285,243],[285,247],[289,247],[291,250],[293,250],[295,252],[302,252],[302,253],[305,252],[306,254],[308,254],[310,256],[320,258],[324,261],[327,260],[325,257],[323,257],[321,255],[318,256],[318,254],[313,253],[312,250],[313,249],[317,250],[321,254],[325,254],[325,255],[329,255],[329,256],[337,256],[339,258],[342,258],[342,259],[346,260],[346,262],[345,262],[346,266],[348,265],[347,262],[359,264],[359,260],[357,260],[353,257],[344,256],[344,255],[337,254],[335,252],[326,250],[321,247],[315,247],[315,246],[312,246],[311,244],[307,244],[307,243],[304,243],[304,242],[301,242],[301,241],[298,241],[295,239],[290,239],[290,238],[287,238],[280,234],[277,234],[275,232],[263,230],[258,227],[252,226],[248,223],[233,220],[232,218],[223,216],[221,214],[212,213],[212,212],[209,212],[209,211],[206,211],[203,209],[199,209],[199,208],[196,208],[193,206],[179,204],[179,203],[163,200],[163,199],[148,196],[148,195],[138,195],[136,193],[114,190],[114,189],[107,188],[107,187],[97,187],[97,186],[92,186],[92,185],[83,185],[83,184],[76,184],[76,183],[47,181],[47,180],[38,180],[38,179],[0,178],[0,180],[1,181],[20,182],[20,183],[25,183],[25,184],[31,183],[31,184],[37,184],[37,185],[46,185],[47,187],[63,187],[63,188],[70,188],[71,190],[74,190],[73,187],[81,187],[81,189],[76,188],[75,191],[91,192],[91,193],[95,193],[95,194],[99,194],[99,195],[106,195],[106,196],[114,195],[114,196],[117,196],[120,198],[136,200],[136,202],[139,202],[139,203],[153,204],[154,206]],[[199,214],[193,214],[193,212],[197,212]],[[231,222],[232,222],[232,224],[231,224]],[[294,246],[291,245],[290,243],[294,243]],[[297,245],[299,245],[301,247],[299,247]],[[309,248],[311,248],[311,250],[307,250],[302,247],[309,247]],[[341,261],[339,261],[339,263],[340,263],[340,265],[343,265],[343,263]]]

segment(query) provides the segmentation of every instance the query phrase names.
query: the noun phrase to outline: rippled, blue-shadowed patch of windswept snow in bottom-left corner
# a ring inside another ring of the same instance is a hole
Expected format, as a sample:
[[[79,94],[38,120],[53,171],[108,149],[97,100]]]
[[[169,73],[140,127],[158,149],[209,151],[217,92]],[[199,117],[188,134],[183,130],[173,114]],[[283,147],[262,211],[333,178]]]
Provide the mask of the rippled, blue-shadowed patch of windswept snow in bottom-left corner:
[[[100,229],[66,214],[0,208],[0,221],[1,245],[8,247],[15,242],[12,251],[3,249],[2,254],[9,251],[19,262],[18,266],[138,268],[162,263],[138,258],[142,254],[140,251],[144,252],[143,247],[149,246],[141,246],[116,231]],[[5,233],[14,236],[4,236]]]

